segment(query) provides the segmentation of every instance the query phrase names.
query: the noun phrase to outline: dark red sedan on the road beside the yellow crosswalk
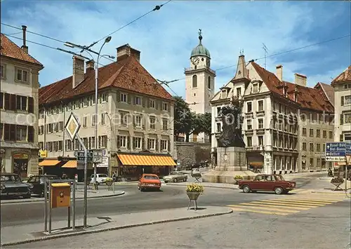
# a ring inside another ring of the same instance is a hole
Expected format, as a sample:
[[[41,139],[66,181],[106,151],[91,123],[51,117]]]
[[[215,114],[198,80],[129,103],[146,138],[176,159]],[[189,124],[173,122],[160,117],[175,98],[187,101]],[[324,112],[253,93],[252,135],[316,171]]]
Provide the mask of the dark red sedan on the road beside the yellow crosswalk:
[[[286,181],[282,175],[256,175],[252,181],[239,181],[239,189],[250,191],[274,191],[275,194],[287,194],[296,187],[296,182]]]

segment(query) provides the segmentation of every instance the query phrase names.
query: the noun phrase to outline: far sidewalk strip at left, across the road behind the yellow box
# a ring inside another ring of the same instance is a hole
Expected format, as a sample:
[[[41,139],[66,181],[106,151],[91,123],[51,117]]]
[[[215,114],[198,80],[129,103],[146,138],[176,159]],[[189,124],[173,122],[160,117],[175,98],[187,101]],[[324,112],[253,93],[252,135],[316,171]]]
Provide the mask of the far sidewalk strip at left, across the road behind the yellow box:
[[[115,190],[113,192],[113,191],[108,191],[107,189],[101,189],[98,191],[88,189],[88,198],[106,198],[106,197],[113,197],[113,196],[121,196],[122,194],[125,194],[125,192],[119,191],[119,190]],[[72,192],[71,192],[71,198],[72,198]],[[76,199],[80,200],[83,198],[84,198],[84,190],[77,189]],[[34,202],[34,201],[44,201],[44,197],[41,198],[37,196],[32,196],[32,198],[29,198],[29,199],[18,198],[18,199],[1,200],[1,205],[9,204],[9,203],[26,203],[26,202]]]

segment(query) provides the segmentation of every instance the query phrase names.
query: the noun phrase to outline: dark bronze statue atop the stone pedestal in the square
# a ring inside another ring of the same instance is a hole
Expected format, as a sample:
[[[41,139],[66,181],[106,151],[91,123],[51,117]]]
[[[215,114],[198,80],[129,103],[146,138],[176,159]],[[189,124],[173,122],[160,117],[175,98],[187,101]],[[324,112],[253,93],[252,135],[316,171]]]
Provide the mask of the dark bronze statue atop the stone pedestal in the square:
[[[221,108],[222,134],[218,138],[218,147],[245,147],[241,136],[241,108],[226,105]]]

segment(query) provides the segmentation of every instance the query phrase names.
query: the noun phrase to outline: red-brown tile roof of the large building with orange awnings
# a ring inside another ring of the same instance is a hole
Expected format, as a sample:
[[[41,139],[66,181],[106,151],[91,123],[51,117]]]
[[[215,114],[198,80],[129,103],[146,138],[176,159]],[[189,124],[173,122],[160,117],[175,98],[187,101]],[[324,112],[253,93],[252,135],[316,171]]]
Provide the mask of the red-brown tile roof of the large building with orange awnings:
[[[164,89],[157,80],[140,65],[140,62],[133,56],[112,62],[109,65],[99,68],[98,89],[116,87],[151,95],[166,100],[173,100],[173,97]],[[84,81],[76,88],[72,88],[72,76],[62,79],[48,86],[39,88],[39,105],[58,102],[78,95],[93,93],[95,91],[94,71],[84,74]]]

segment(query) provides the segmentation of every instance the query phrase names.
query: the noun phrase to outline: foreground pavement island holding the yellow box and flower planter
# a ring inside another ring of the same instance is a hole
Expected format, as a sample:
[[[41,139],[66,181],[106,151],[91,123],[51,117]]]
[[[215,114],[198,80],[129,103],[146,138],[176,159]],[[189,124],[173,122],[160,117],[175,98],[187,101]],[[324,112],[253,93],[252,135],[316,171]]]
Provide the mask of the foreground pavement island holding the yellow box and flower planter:
[[[88,217],[88,227],[83,229],[83,220],[79,219],[76,220],[77,229],[75,231],[72,229],[65,229],[65,227],[67,227],[67,221],[62,220],[60,222],[52,223],[53,230],[51,235],[44,233],[44,222],[15,227],[1,227],[1,246],[43,241],[81,234],[92,234],[129,227],[139,227],[147,224],[192,220],[216,215],[225,215],[232,212],[233,211],[230,208],[226,207],[199,206],[199,209],[196,211],[187,210],[187,207],[184,207],[152,212],[114,215],[110,217]]]

